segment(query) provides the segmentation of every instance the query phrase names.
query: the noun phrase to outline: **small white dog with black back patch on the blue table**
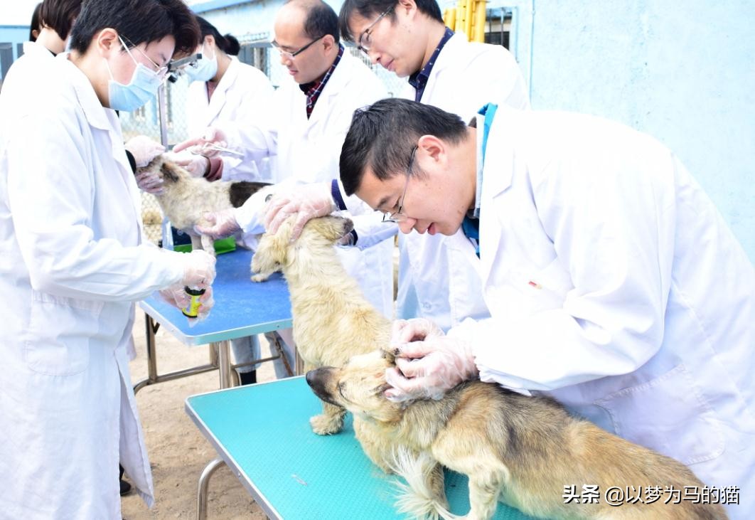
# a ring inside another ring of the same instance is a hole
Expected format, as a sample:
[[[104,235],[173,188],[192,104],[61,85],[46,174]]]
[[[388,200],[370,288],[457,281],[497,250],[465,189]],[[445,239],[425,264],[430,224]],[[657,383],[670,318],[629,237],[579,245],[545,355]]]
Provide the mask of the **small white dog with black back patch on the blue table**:
[[[215,252],[213,239],[200,237],[194,231],[196,224],[208,224],[203,215],[238,208],[258,190],[270,186],[265,182],[209,182],[205,178],[193,177],[164,155],[156,156],[147,166],[138,168],[137,173],[141,172],[154,172],[162,178],[165,192],[155,197],[163,214],[174,228],[191,237],[192,249],[205,249],[210,254]]]

